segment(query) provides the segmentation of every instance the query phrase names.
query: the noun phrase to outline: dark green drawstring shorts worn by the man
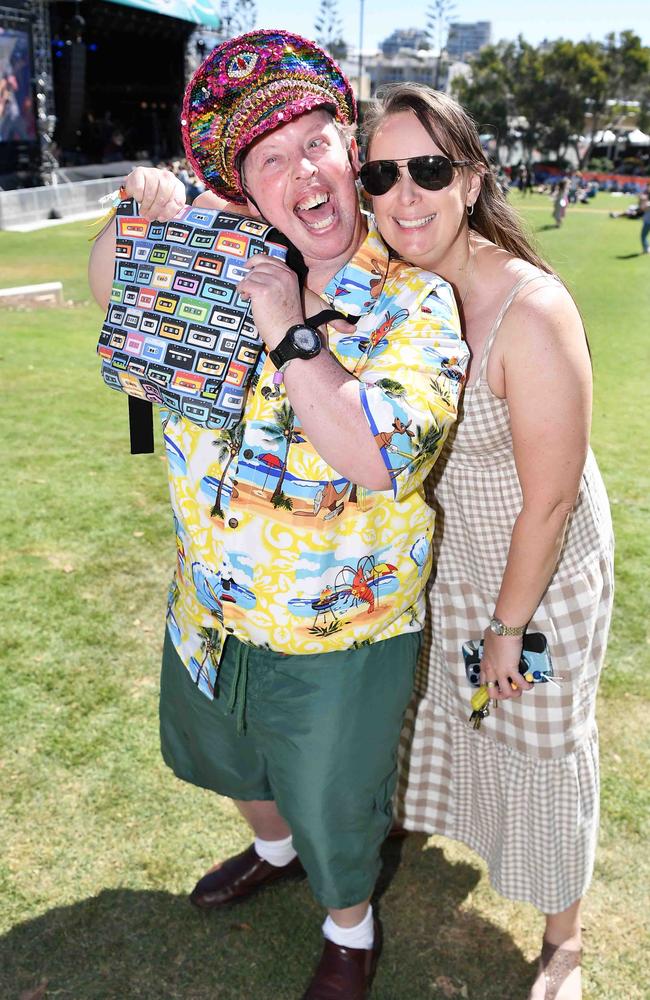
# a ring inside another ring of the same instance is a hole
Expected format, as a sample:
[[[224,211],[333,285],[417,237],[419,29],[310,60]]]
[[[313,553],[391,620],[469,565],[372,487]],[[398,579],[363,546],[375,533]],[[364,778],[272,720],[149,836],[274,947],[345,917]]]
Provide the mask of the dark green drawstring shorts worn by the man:
[[[409,632],[360,649],[285,656],[229,636],[211,701],[167,633],[163,759],[177,777],[220,795],[275,800],[316,899],[354,906],[379,874],[420,642]]]

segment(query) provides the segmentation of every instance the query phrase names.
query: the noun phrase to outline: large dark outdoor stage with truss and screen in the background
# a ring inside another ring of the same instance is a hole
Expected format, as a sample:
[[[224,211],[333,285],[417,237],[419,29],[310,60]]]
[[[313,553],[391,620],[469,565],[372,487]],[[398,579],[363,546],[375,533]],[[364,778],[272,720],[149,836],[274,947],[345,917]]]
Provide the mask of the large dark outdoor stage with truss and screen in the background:
[[[208,0],[0,0],[0,190],[182,155],[183,92],[218,40],[214,10]]]

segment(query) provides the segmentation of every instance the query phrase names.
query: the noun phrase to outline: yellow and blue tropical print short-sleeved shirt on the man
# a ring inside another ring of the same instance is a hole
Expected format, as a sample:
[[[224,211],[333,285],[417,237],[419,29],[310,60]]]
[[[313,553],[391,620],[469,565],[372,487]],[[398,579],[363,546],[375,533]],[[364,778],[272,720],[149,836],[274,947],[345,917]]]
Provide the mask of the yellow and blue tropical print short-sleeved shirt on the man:
[[[323,461],[265,352],[235,428],[163,416],[178,554],[167,622],[208,697],[228,633],[304,654],[423,626],[434,514],[422,483],[468,360],[454,296],[391,260],[371,228],[324,297],[359,316],[353,335],[330,327],[328,347],[359,379],[391,490],[363,489]]]

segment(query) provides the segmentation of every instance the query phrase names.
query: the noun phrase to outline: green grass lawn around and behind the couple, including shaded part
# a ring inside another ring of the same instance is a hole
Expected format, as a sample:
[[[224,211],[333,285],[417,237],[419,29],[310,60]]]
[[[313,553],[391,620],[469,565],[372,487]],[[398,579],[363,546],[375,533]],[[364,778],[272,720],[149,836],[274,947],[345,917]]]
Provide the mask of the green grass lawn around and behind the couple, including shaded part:
[[[650,982],[650,256],[639,223],[607,214],[628,202],[599,195],[557,231],[550,199],[513,195],[589,331],[593,444],[618,538],[585,1000],[641,1000]],[[1,284],[61,279],[69,300],[0,313],[0,997],[297,1000],[320,949],[306,883],[208,916],[186,901],[249,837],[227,802],[159,757],[165,470],[160,448],[128,454],[125,401],[99,380],[87,233],[0,233]],[[399,853],[386,857],[373,1000],[524,1000],[536,912],[498,896],[460,844],[411,836]]]

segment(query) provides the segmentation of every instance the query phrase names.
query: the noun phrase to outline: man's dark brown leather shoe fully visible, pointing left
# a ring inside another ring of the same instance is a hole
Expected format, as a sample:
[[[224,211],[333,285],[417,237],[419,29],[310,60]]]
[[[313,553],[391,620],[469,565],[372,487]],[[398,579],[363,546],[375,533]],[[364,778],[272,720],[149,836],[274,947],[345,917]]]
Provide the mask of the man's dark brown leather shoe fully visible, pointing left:
[[[194,886],[190,902],[202,910],[211,910],[237,899],[244,899],[256,889],[282,878],[298,877],[305,870],[298,858],[288,865],[278,868],[263,861],[251,844],[234,858],[219,862],[211,868]]]

